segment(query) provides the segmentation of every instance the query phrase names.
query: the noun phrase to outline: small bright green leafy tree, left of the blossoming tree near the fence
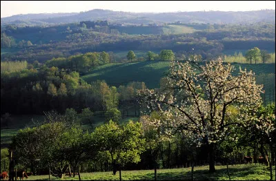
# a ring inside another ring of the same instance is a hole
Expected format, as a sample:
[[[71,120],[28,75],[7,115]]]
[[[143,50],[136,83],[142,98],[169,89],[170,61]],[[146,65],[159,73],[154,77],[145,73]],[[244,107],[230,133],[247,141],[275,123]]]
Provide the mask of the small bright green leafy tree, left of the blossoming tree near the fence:
[[[130,121],[125,126],[119,126],[110,120],[107,124],[95,129],[92,139],[99,148],[98,158],[108,159],[113,166],[113,175],[115,175],[118,166],[140,161],[140,154],[144,151],[145,143],[142,134],[139,122]]]

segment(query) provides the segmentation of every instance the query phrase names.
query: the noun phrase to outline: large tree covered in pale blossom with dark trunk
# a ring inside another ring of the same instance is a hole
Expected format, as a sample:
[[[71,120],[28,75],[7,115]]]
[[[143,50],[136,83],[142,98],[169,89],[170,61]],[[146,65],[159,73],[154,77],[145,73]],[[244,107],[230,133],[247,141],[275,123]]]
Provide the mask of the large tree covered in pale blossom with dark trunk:
[[[156,123],[152,125],[166,124],[168,134],[180,131],[192,137],[197,146],[208,146],[210,172],[215,172],[217,143],[228,135],[230,126],[245,124],[245,120],[231,119],[229,108],[234,106],[246,114],[262,104],[262,85],[256,84],[254,73],[240,68],[234,76],[233,70],[234,66],[221,59],[205,66],[195,61],[172,61],[159,89],[138,93],[149,111],[158,110],[168,117],[165,122],[153,120]]]

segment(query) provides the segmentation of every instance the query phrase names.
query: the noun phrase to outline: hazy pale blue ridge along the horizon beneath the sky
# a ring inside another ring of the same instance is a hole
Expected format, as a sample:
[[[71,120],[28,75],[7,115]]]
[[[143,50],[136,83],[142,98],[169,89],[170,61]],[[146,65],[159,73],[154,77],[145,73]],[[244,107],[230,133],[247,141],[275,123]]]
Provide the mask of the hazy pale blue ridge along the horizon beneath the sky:
[[[28,23],[74,23],[86,20],[108,20],[114,23],[254,23],[274,22],[275,10],[257,10],[246,12],[197,11],[197,12],[162,12],[162,13],[135,13],[112,10],[89,10],[87,12],[52,13],[14,15],[1,18],[1,25]]]

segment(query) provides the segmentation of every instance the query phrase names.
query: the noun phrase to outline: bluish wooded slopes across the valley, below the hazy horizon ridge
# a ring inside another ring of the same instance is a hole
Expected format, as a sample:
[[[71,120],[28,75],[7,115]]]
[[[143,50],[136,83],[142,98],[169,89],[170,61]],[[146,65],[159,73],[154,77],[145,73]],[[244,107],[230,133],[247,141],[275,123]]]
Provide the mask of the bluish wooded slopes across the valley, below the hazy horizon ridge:
[[[41,31],[41,33],[37,32],[35,35],[38,37],[34,38],[35,40],[24,38],[21,35],[20,39],[25,41],[20,43],[21,46],[17,38],[14,38],[17,47],[21,47],[21,50],[14,55],[1,55],[2,59],[28,59],[31,62],[34,60],[43,62],[53,57],[69,57],[75,53],[118,50],[170,49],[174,52],[186,51],[188,54],[192,48],[195,53],[201,54],[205,59],[210,55],[220,55],[222,50],[246,50],[253,48],[252,46],[257,46],[262,50],[275,49],[275,25],[269,23],[227,25],[221,29],[200,30],[180,35],[127,35],[126,33],[111,34],[82,29],[74,32],[72,30],[76,25],[70,26],[62,26],[62,28],[57,26],[47,28],[47,31]],[[13,34],[8,30],[3,31],[3,35],[6,33],[8,36],[5,39],[15,37],[17,33],[20,34],[17,30],[13,30]],[[48,39],[39,44],[39,39],[41,39],[39,36],[45,34],[48,37],[47,33],[50,33],[49,36],[56,41]],[[28,41],[32,43],[32,46],[26,43]],[[23,46],[24,44],[26,45]]]

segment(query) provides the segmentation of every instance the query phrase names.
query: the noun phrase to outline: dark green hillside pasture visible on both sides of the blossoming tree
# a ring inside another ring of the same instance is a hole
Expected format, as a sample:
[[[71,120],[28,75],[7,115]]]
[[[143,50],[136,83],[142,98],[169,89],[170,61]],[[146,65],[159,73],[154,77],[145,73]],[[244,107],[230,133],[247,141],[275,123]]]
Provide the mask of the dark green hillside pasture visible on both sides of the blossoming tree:
[[[129,82],[145,82],[148,88],[158,88],[161,77],[165,77],[170,66],[169,61],[142,61],[135,63],[106,64],[83,75],[88,84],[97,79],[104,79],[109,86],[126,85]],[[264,84],[266,104],[275,101],[275,64],[239,64],[235,66],[237,75],[239,66],[244,70],[252,70],[257,84]],[[264,95],[263,95],[264,99]]]

